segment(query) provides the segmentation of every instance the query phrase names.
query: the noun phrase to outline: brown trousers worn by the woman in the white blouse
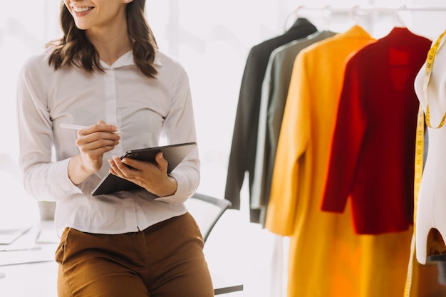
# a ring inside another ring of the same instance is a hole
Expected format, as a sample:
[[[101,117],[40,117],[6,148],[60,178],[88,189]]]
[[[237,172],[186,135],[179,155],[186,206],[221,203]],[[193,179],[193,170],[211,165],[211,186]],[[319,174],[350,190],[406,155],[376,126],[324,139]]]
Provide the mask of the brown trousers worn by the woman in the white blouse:
[[[188,213],[127,234],[67,228],[56,251],[58,296],[214,296],[203,246]]]

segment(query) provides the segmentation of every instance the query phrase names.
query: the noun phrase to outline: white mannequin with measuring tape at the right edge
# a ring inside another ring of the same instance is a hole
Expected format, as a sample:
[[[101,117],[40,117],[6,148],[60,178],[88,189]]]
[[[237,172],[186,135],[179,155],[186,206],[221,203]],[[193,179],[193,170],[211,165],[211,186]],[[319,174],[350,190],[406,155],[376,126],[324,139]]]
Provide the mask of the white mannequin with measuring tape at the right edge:
[[[420,264],[426,264],[427,256],[446,253],[441,238],[438,240],[440,236],[446,239],[446,125],[440,124],[446,113],[445,37],[440,36],[437,42],[440,43],[427,88],[424,86],[426,63],[415,78],[415,93],[425,112],[429,135],[415,221],[416,258]],[[427,119],[427,106],[430,119]],[[432,231],[435,231],[437,240],[428,241],[428,238],[432,239]]]

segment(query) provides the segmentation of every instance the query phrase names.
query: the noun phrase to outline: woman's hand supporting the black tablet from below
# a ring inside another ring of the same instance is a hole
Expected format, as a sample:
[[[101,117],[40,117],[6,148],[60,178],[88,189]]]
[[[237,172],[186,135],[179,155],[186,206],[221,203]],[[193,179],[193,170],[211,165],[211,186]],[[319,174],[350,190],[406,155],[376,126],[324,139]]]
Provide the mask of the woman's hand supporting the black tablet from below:
[[[152,194],[170,196],[177,192],[177,181],[167,175],[168,162],[162,152],[155,156],[155,163],[130,158],[120,160],[120,157],[113,157],[108,162],[112,174],[138,184]]]

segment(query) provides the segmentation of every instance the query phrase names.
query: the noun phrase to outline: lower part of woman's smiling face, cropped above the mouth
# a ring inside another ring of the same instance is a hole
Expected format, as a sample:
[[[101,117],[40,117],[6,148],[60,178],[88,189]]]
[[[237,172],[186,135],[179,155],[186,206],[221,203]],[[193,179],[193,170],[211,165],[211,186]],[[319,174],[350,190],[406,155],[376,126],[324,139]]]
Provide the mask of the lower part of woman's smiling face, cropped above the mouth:
[[[76,26],[81,30],[90,28],[113,28],[125,21],[125,5],[133,0],[63,0]]]

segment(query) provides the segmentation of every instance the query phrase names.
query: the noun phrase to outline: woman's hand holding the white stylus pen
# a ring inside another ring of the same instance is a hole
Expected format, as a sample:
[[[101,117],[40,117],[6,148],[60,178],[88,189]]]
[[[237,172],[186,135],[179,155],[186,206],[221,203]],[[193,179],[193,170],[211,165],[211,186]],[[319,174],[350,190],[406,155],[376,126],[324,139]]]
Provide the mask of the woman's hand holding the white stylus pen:
[[[80,184],[100,170],[104,153],[113,150],[120,141],[120,136],[114,133],[117,130],[118,127],[103,120],[78,130],[76,145],[81,154],[72,157],[68,164],[68,177],[74,184]]]

